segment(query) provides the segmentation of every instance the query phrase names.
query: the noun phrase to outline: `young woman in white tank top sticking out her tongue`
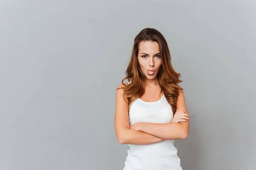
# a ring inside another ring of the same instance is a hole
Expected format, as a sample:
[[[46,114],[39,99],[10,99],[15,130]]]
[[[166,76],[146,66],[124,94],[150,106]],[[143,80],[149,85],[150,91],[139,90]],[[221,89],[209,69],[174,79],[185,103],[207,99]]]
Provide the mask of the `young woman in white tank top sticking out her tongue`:
[[[173,144],[187,138],[189,114],[177,85],[180,74],[172,68],[159,31],[140,31],[125,73],[116,89],[115,110],[116,138],[130,146],[123,170],[182,170]]]

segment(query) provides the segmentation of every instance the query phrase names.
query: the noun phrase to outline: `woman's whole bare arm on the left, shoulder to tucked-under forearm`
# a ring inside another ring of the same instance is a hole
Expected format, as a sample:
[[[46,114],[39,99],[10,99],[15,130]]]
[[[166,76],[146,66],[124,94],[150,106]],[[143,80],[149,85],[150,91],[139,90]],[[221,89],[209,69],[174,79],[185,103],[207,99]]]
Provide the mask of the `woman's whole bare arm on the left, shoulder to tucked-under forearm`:
[[[115,130],[119,144],[154,144],[166,139],[150,135],[148,133],[130,129],[128,116],[128,99],[123,98],[124,90],[119,85],[116,90]]]

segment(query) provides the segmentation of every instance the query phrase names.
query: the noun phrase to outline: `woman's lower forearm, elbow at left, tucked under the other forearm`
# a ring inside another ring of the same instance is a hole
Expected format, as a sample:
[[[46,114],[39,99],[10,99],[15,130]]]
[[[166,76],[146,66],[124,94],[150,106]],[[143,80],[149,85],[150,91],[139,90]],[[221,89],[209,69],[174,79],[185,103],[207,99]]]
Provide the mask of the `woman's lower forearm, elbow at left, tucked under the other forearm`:
[[[122,144],[154,144],[165,140],[138,130],[125,129],[122,131]]]

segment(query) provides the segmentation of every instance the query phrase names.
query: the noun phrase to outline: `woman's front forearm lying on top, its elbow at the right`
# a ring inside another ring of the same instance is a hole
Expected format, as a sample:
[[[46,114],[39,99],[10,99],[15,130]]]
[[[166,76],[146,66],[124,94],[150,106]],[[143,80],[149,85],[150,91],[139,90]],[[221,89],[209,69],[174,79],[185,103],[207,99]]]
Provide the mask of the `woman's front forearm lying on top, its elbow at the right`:
[[[180,123],[147,123],[140,122],[138,130],[162,139],[185,139],[186,134]]]

